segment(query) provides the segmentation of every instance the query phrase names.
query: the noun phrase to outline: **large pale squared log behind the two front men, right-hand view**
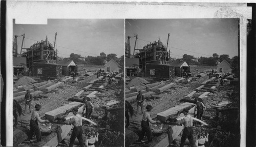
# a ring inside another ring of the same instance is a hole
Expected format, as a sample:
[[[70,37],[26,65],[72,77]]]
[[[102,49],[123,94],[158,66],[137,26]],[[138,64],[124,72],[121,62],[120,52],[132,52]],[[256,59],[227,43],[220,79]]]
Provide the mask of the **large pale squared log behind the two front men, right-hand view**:
[[[193,103],[183,103],[183,104],[177,105],[173,108],[170,108],[170,109],[165,110],[163,112],[157,113],[157,119],[159,121],[165,122],[170,117],[174,117],[175,115],[177,115],[177,113],[182,112],[184,109],[188,109],[188,108],[191,108],[191,107],[194,107],[194,106],[195,106],[195,104],[193,104]]]

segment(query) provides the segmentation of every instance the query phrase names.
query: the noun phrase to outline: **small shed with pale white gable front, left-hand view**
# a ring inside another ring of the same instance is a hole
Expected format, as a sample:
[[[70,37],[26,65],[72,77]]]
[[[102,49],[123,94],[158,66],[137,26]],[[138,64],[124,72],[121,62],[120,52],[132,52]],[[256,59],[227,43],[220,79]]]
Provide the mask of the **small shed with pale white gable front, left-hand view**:
[[[77,73],[77,65],[73,60],[69,61],[60,61],[58,64],[62,65],[62,75],[63,76],[70,76],[71,71]]]

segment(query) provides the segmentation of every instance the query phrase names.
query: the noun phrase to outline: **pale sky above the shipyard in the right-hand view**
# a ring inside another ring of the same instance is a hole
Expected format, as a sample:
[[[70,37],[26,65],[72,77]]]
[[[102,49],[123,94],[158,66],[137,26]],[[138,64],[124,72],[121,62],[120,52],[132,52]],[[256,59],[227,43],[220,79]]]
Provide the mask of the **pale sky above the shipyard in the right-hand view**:
[[[166,46],[170,56],[182,58],[183,54],[194,57],[209,57],[217,53],[228,54],[230,58],[238,55],[239,21],[233,18],[218,19],[126,19],[125,41],[130,38],[131,54],[138,35],[136,49],[158,41]],[[135,51],[136,52],[136,51]]]

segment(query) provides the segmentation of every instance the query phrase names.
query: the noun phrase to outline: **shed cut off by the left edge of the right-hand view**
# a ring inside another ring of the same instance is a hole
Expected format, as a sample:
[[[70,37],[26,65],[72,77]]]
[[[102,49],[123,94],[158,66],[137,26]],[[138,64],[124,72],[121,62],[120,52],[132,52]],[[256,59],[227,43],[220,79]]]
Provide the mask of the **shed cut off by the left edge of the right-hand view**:
[[[125,74],[131,76],[139,72],[139,58],[125,58]]]

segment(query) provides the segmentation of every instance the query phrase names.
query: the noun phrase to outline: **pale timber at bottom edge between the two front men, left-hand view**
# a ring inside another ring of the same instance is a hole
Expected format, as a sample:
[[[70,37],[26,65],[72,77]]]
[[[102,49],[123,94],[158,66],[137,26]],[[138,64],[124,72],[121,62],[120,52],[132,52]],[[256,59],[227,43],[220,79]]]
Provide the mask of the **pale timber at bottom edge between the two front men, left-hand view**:
[[[64,139],[68,134],[69,132],[71,131],[72,129],[72,125],[62,125],[61,127],[61,138]],[[62,140],[61,139],[61,140]],[[51,146],[51,147],[55,147],[57,146],[59,143],[58,143],[58,137],[57,137],[57,134],[51,138],[51,140],[49,140],[48,142],[46,142],[44,145],[42,146]]]

